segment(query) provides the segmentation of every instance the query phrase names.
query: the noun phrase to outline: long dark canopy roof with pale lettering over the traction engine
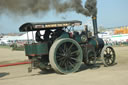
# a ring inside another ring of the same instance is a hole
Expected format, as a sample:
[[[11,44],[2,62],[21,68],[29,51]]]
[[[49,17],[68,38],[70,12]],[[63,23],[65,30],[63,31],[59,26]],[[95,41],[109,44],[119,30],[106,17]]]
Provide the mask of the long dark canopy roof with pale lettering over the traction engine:
[[[47,29],[62,29],[68,26],[80,26],[81,21],[57,21],[57,22],[40,22],[40,23],[25,23],[20,28],[20,32],[47,30]]]

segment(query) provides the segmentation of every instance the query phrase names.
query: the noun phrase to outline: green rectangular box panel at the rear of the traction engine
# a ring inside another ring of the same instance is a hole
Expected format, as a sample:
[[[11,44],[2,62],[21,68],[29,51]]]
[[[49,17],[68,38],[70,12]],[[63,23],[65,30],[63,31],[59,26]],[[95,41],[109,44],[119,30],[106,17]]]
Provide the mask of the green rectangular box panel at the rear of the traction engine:
[[[48,44],[47,43],[33,43],[25,45],[26,55],[45,55],[48,54]]]

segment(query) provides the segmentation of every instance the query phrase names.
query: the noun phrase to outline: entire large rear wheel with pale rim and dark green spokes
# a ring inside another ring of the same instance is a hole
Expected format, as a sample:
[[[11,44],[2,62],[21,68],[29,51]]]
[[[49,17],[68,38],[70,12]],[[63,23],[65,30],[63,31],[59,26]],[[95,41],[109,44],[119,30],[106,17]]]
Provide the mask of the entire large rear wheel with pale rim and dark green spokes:
[[[50,48],[49,60],[52,68],[61,74],[78,71],[83,55],[80,45],[73,39],[59,39]]]

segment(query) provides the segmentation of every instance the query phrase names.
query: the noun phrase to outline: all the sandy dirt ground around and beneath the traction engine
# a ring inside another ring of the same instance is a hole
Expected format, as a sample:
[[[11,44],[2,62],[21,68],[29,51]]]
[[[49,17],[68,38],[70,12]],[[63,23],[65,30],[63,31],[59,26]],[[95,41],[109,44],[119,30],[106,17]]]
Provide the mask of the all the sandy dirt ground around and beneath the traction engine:
[[[100,65],[89,68],[82,65],[79,72],[68,75],[39,69],[27,72],[27,65],[1,67],[0,85],[128,85],[128,47],[115,47],[117,64],[111,67]],[[24,52],[0,49],[0,62],[26,60]]]

